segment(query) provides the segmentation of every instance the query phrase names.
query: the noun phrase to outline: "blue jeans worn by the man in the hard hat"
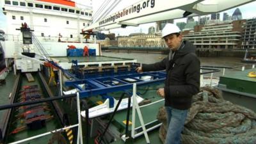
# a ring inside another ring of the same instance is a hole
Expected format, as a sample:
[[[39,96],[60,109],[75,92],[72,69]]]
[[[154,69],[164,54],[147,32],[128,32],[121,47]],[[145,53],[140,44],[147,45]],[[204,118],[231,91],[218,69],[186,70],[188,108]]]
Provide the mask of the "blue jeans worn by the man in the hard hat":
[[[165,107],[167,114],[166,144],[180,144],[180,136],[187,118],[188,109],[181,110]]]

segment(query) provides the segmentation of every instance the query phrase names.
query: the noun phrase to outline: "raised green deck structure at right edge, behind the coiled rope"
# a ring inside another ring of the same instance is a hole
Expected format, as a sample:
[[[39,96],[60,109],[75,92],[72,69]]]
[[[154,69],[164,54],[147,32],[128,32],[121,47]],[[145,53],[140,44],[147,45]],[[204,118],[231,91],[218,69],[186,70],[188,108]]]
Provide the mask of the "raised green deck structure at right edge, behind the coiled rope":
[[[223,98],[256,111],[256,78],[248,77],[249,72],[256,72],[256,68],[235,71],[220,77],[218,89],[223,92]]]

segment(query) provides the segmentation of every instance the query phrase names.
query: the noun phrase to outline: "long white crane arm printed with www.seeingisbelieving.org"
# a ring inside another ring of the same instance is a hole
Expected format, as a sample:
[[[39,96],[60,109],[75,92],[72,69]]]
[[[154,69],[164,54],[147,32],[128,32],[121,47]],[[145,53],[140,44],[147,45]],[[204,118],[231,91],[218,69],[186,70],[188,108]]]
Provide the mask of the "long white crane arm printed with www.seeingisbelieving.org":
[[[102,31],[126,26],[138,26],[159,20],[179,19],[222,12],[255,0],[143,0],[123,10],[97,20],[83,31]]]

